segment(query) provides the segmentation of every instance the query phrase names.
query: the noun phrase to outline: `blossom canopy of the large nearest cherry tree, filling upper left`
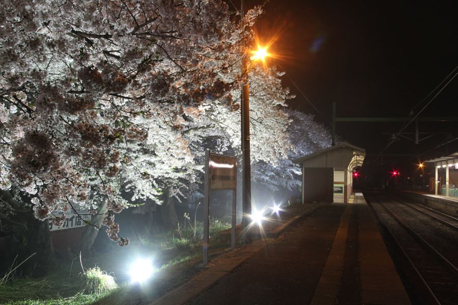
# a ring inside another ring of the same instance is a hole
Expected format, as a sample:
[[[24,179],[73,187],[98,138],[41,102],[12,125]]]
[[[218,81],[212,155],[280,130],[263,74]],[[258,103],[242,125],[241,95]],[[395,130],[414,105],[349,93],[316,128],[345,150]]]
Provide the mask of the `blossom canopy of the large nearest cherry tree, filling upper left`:
[[[227,73],[260,9],[230,18],[218,0],[5,0],[0,4],[0,188],[28,194],[38,219],[114,214],[195,178],[188,108],[231,107]],[[186,179],[182,179],[186,176]],[[186,180],[186,181],[185,181]],[[6,208],[8,209],[8,207]]]

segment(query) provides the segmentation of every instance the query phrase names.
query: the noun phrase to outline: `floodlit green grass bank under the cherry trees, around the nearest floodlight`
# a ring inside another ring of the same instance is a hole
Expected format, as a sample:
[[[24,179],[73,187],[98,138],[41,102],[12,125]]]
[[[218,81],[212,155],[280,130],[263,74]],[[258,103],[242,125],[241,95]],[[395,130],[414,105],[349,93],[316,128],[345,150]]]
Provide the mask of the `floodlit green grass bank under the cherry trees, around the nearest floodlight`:
[[[211,251],[227,248],[230,235],[220,234],[230,225],[219,220],[210,223]],[[0,284],[0,304],[38,305],[38,304],[142,304],[179,286],[193,276],[202,259],[203,223],[188,223],[186,229],[178,227],[156,236],[136,236],[129,247],[116,245],[92,258],[84,259],[84,264],[96,266],[90,269],[76,267],[74,262],[62,262],[58,268],[40,279],[13,279]],[[128,283],[128,265],[135,256],[153,258],[157,269],[154,283],[148,289]],[[78,271],[79,269],[79,271]],[[118,285],[113,278],[116,275]],[[158,280],[160,279],[160,280]]]

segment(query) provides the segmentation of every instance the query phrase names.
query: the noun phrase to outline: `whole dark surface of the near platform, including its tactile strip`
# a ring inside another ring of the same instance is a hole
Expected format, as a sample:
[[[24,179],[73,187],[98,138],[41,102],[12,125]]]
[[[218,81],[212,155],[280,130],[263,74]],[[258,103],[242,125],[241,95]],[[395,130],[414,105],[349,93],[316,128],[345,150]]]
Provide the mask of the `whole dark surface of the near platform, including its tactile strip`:
[[[362,196],[282,230],[153,304],[410,304]]]

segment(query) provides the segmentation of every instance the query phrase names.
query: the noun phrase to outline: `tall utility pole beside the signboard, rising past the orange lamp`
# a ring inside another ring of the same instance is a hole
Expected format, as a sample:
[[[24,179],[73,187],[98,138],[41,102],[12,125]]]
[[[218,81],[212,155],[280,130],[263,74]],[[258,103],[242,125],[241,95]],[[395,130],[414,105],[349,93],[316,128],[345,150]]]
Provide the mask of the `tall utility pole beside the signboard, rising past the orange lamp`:
[[[245,16],[243,0],[241,0],[241,16]],[[243,40],[245,47],[245,40]],[[251,164],[250,164],[250,105],[248,86],[248,59],[242,58],[242,73],[247,73],[246,82],[242,85],[241,94],[241,137],[242,137],[242,229],[248,228],[251,215]],[[251,232],[245,231],[243,243],[251,242]]]

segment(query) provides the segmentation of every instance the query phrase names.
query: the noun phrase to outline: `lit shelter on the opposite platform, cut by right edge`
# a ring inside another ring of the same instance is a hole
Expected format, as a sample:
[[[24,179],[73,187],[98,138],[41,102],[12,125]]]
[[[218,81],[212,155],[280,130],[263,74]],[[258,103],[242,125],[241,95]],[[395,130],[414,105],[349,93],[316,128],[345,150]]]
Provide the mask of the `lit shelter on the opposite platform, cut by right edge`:
[[[430,181],[434,185],[434,194],[446,197],[458,197],[458,152],[428,160],[435,168],[435,180]]]

